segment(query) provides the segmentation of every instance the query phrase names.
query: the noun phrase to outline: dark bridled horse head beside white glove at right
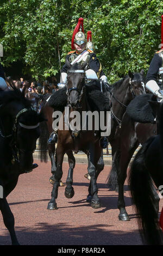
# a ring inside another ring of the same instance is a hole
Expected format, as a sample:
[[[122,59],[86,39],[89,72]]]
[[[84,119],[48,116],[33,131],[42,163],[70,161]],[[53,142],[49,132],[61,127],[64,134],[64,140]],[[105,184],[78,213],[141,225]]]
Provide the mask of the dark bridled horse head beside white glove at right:
[[[145,92],[144,70],[142,69],[140,72],[135,72],[135,73],[132,73],[129,70],[128,76],[129,76],[128,93],[131,95],[131,97],[145,94],[146,92]]]

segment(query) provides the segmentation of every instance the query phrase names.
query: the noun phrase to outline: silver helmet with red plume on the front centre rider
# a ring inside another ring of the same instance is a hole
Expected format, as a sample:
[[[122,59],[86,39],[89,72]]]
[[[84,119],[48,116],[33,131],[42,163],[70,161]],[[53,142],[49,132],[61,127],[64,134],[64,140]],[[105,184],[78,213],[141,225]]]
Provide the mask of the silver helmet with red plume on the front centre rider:
[[[86,42],[85,34],[84,34],[84,27],[83,27],[83,18],[79,18],[78,24],[74,29],[72,40],[71,40],[71,48],[74,50],[74,42],[78,45],[84,44]]]

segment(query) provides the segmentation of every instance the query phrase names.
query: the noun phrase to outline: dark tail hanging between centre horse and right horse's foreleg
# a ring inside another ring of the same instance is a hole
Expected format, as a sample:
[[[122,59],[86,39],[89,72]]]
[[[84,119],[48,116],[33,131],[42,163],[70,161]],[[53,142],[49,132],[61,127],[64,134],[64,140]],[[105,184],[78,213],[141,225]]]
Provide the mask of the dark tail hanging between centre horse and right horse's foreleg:
[[[106,179],[106,185],[107,187],[111,188],[112,190],[116,190],[116,186],[118,184],[117,182],[117,163],[119,163],[121,157],[121,151],[117,150],[114,159],[112,161],[112,167],[110,170],[110,173],[108,175],[108,178]]]

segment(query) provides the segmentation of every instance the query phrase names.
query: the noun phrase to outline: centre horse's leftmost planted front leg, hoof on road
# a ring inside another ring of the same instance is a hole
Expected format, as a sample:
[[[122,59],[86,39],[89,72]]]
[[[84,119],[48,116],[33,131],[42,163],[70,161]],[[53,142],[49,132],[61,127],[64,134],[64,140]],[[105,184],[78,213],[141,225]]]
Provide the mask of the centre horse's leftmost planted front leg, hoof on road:
[[[58,209],[55,199],[57,199],[58,197],[58,187],[59,187],[60,179],[62,178],[62,174],[63,174],[62,162],[64,160],[64,155],[65,155],[65,151],[59,143],[57,145],[56,155],[57,155],[57,169],[56,169],[56,172],[54,173],[55,182],[53,184],[52,198],[47,206],[48,210]]]

